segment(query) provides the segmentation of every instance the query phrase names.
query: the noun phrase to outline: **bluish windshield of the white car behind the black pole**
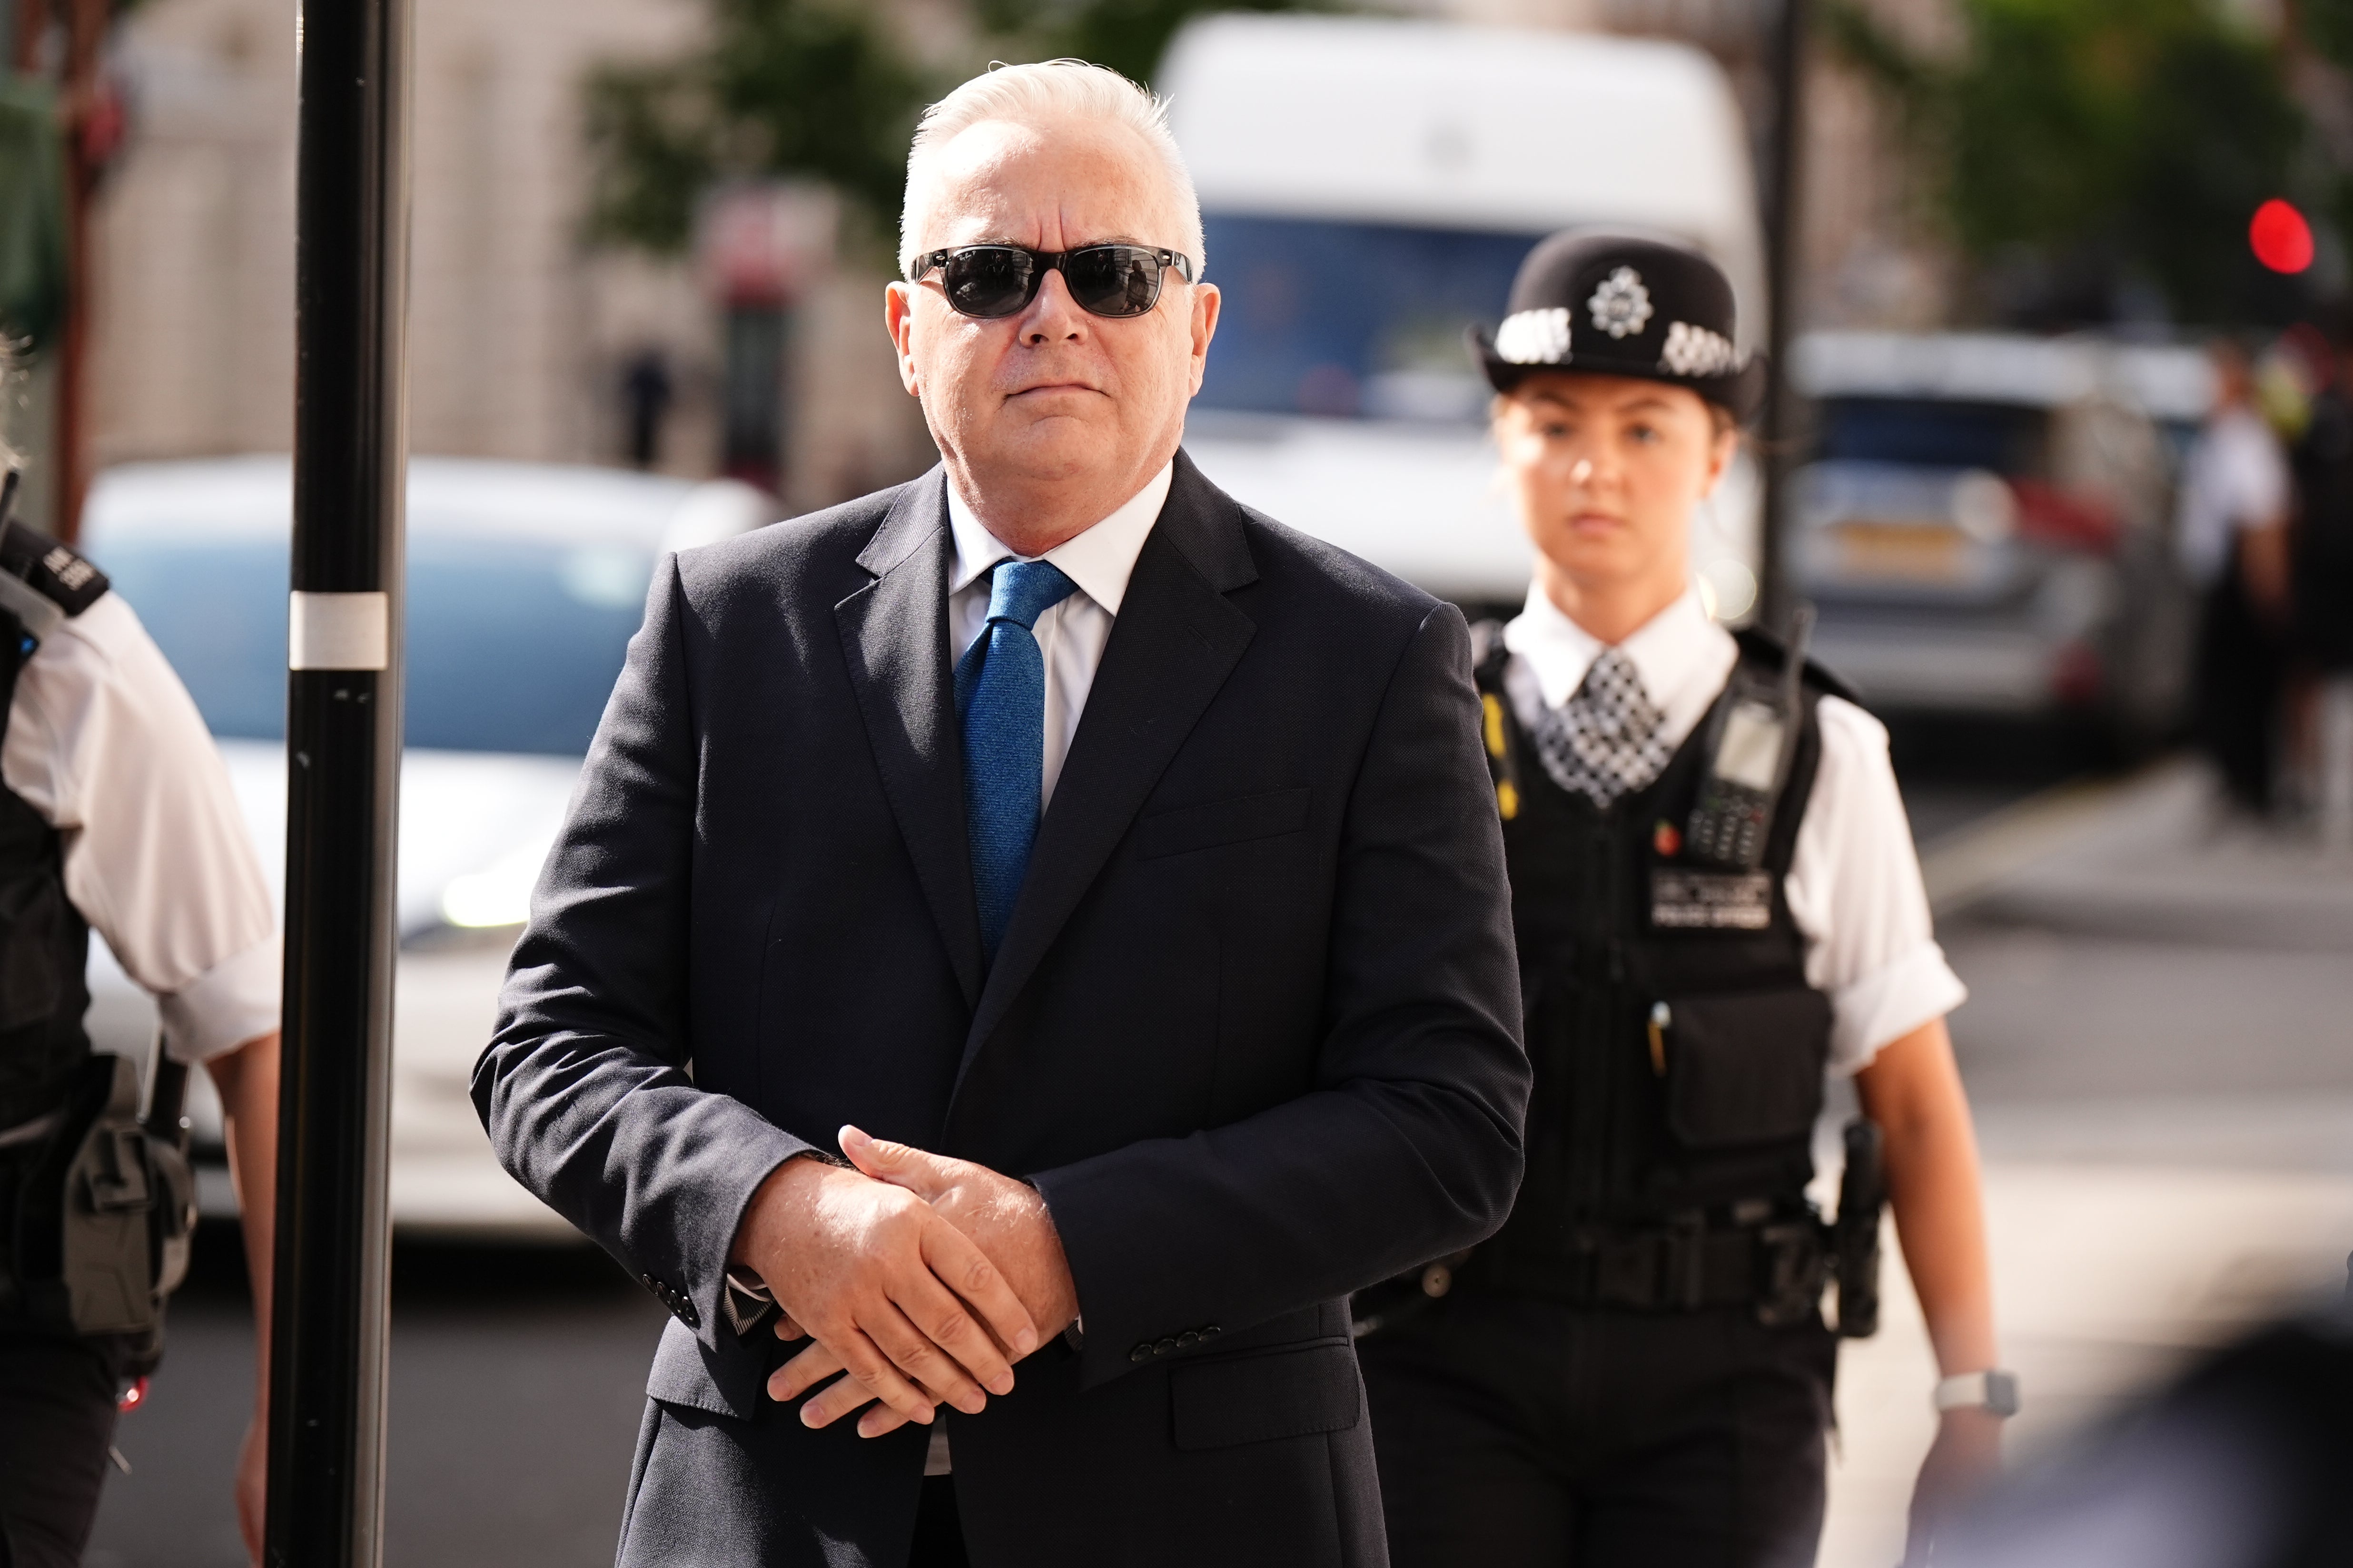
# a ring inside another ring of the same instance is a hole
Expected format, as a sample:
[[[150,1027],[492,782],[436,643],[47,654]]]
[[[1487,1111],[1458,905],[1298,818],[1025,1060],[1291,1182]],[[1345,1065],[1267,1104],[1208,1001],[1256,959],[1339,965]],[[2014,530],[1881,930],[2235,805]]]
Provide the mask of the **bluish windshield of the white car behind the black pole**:
[[[407,745],[584,755],[654,552],[409,534]],[[214,736],[282,741],[287,545],[141,531],[96,541]]]

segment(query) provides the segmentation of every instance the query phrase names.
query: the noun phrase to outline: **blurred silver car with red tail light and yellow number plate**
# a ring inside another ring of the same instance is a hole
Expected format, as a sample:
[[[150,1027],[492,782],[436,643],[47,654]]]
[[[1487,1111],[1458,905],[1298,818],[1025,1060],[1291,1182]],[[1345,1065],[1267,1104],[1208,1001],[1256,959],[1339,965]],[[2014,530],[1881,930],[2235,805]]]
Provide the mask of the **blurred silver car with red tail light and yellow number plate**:
[[[2212,402],[2205,355],[1824,331],[1791,371],[1814,437],[1788,569],[1824,663],[1878,708],[2080,717],[2127,752],[2179,722],[2193,604],[2172,496]]]

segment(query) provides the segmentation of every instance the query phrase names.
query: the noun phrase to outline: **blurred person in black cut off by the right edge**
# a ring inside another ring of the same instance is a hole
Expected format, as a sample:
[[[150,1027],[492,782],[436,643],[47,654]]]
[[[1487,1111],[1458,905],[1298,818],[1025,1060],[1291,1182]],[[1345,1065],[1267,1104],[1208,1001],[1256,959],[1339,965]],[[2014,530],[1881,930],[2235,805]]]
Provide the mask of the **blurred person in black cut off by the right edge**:
[[[2299,762],[2313,776],[2320,837],[2353,849],[2353,313],[2329,334],[2329,381],[2294,449],[2289,538]]]

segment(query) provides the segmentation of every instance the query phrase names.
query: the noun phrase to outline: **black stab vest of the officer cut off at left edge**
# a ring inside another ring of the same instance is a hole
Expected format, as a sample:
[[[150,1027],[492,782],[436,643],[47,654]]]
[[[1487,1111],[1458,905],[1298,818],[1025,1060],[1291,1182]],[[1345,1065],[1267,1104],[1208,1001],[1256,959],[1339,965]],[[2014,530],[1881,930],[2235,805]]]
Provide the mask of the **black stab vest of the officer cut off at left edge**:
[[[64,616],[106,592],[106,576],[89,562],[21,522],[0,531],[0,571]],[[35,646],[24,618],[0,607],[0,741]],[[66,898],[64,839],[0,783],[0,1131],[64,1105],[89,1060],[87,964],[89,924]]]

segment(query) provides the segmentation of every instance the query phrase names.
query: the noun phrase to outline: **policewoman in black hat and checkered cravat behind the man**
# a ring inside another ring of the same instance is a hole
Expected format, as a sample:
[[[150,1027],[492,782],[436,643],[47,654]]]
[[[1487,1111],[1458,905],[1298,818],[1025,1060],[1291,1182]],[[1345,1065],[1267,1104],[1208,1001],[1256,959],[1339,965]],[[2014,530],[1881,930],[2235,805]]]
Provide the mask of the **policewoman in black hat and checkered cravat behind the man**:
[[[1819,668],[1791,679],[1781,644],[1715,625],[1689,576],[1762,364],[1711,261],[1602,233],[1539,244],[1475,348],[1537,548],[1525,611],[1478,654],[1537,1088],[1504,1229],[1424,1269],[1419,1300],[1360,1305],[1391,1556],[1814,1559],[1840,1246],[1805,1190],[1826,1077],[1878,1126],[1946,1378],[1920,1389],[1941,1427],[1918,1552],[1995,1462],[2014,1380],[1944,1027],[1962,985],[1887,731]],[[1875,1239],[1878,1201],[1857,1201]],[[1845,1300],[1868,1316],[1864,1267]]]

